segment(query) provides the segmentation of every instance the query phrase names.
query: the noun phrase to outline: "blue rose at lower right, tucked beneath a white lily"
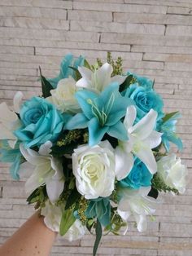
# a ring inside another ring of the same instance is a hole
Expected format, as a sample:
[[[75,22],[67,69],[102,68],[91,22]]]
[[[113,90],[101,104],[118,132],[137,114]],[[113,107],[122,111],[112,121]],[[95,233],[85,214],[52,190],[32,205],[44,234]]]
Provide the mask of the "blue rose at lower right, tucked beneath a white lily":
[[[151,186],[151,179],[153,175],[146,168],[146,165],[143,162],[136,158],[134,161],[134,166],[130,171],[129,175],[120,180],[119,185],[123,188],[140,188],[140,187],[149,187]]]

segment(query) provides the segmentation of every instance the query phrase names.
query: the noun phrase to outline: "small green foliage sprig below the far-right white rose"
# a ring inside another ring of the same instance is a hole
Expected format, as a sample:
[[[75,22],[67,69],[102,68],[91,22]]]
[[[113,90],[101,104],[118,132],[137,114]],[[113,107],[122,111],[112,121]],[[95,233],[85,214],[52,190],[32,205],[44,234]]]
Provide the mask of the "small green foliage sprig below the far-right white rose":
[[[151,180],[151,185],[152,185],[152,188],[155,188],[159,192],[164,191],[164,192],[174,192],[176,194],[179,193],[176,188],[168,187],[164,183],[163,179],[160,178],[158,173],[154,174],[153,179]]]

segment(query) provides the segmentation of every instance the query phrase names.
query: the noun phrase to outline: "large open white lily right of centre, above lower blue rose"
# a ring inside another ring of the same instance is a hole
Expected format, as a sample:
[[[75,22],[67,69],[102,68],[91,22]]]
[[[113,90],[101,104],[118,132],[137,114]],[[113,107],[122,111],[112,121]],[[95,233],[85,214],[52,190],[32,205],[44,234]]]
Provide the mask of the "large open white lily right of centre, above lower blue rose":
[[[151,109],[133,126],[136,116],[136,108],[133,105],[128,107],[124,126],[128,131],[129,140],[120,141],[119,146],[116,147],[116,178],[118,180],[127,177],[132,170],[133,155],[146,165],[151,174],[157,171],[157,163],[151,150],[161,143],[162,134],[154,130],[157,113]]]

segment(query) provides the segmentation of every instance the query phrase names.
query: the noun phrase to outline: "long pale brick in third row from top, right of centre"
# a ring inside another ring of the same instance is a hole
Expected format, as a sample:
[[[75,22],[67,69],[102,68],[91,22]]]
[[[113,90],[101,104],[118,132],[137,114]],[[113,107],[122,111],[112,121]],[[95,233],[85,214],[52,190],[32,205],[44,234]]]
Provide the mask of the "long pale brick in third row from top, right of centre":
[[[164,25],[157,24],[122,24],[109,23],[100,21],[71,21],[71,30],[73,31],[94,31],[94,32],[109,32],[109,33],[135,33],[138,34],[162,34],[164,35]]]

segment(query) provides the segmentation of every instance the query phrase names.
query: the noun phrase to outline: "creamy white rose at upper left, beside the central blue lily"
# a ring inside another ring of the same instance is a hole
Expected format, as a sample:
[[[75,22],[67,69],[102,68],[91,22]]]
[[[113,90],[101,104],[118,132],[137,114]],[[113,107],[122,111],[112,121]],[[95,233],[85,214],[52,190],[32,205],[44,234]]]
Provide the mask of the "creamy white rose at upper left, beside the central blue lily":
[[[46,98],[61,111],[67,113],[80,112],[80,106],[75,98],[76,81],[72,77],[61,79],[55,90],[50,90],[52,96]]]

